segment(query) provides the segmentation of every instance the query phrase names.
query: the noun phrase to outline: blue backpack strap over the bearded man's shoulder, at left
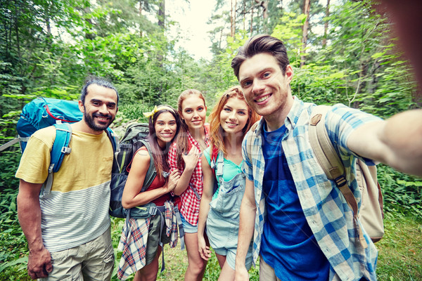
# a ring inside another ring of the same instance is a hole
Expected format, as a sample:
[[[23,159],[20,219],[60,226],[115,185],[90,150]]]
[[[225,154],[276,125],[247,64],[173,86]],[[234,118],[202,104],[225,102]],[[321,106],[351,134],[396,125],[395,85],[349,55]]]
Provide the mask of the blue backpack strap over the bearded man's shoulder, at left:
[[[56,128],[56,138],[50,152],[49,176],[47,176],[47,180],[44,183],[44,195],[50,193],[51,185],[53,185],[53,173],[60,169],[63,157],[72,150],[69,148],[70,138],[72,138],[72,127],[70,124],[58,122],[54,124],[54,127]]]

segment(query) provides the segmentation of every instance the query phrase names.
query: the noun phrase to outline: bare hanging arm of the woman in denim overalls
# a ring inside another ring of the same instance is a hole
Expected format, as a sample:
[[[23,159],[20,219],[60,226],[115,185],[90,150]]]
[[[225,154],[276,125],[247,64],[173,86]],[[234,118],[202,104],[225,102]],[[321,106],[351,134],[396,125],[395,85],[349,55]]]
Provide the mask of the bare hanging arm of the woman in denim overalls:
[[[211,257],[210,247],[207,246],[204,238],[205,224],[207,222],[208,212],[210,211],[210,202],[212,200],[212,190],[214,190],[214,174],[205,155],[202,157],[203,170],[203,195],[200,199],[199,218],[198,218],[198,251],[200,257],[207,261]]]

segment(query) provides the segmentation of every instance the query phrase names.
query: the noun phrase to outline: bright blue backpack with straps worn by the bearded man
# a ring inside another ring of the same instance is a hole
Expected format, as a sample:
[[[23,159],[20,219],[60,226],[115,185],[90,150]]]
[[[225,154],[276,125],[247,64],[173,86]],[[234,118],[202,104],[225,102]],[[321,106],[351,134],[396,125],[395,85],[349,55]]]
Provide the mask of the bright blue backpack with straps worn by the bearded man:
[[[22,153],[32,133],[47,126],[56,127],[56,139],[51,149],[49,176],[44,185],[44,195],[49,194],[51,190],[53,173],[60,169],[63,157],[70,153],[69,143],[72,137],[70,123],[82,120],[82,115],[78,103],[72,100],[36,98],[23,107],[18,124],[16,124]],[[106,132],[113,145],[113,150],[116,151],[117,136],[110,128]]]

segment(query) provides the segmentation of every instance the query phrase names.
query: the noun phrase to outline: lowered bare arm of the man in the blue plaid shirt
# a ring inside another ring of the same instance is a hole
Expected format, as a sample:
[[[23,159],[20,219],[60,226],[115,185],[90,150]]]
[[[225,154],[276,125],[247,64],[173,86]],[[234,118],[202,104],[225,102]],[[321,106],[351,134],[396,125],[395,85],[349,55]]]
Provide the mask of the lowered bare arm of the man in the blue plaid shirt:
[[[238,247],[236,251],[236,281],[249,280],[248,270],[245,266],[246,254],[248,254],[250,240],[252,240],[255,228],[255,193],[253,182],[246,179],[245,194],[241,204],[239,221]]]

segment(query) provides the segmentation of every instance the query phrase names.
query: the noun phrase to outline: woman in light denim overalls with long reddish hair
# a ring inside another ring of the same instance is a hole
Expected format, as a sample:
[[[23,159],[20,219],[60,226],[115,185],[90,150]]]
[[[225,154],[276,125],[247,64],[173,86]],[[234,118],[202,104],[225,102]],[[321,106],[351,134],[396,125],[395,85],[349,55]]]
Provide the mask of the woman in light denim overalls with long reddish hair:
[[[258,119],[245,102],[240,86],[226,91],[210,114],[211,146],[204,151],[202,159],[198,249],[203,259],[210,258],[210,247],[204,237],[206,224],[207,237],[222,268],[219,280],[234,280],[239,211],[245,190],[242,141]],[[246,260],[250,268],[252,244]]]

